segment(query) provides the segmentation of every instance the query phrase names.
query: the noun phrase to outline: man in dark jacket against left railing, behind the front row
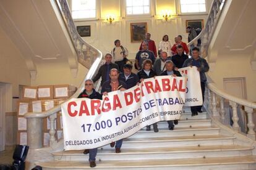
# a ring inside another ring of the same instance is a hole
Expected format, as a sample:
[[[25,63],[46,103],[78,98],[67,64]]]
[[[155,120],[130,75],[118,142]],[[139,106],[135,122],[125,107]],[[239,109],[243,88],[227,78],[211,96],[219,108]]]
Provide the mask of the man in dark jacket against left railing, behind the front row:
[[[101,65],[100,69],[98,70],[97,75],[93,78],[93,82],[97,81],[101,77],[101,86],[105,81],[109,80],[109,71],[113,68],[116,68],[119,70],[119,66],[115,63],[112,63],[112,54],[107,53],[105,55],[106,63],[104,65]]]

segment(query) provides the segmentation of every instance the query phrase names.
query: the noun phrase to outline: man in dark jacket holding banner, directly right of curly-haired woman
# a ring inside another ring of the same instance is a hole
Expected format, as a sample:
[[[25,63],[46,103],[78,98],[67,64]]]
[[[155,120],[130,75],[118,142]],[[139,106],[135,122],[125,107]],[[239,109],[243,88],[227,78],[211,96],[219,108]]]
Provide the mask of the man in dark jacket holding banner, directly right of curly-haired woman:
[[[179,73],[179,71],[173,70],[173,62],[171,60],[168,60],[165,62],[165,68],[166,68],[166,70],[163,71],[163,73],[161,73],[161,76],[172,75],[174,77],[176,77],[176,76],[181,77],[181,73]],[[178,124],[177,120],[167,121],[167,122],[169,124],[169,130],[173,130],[174,124]]]

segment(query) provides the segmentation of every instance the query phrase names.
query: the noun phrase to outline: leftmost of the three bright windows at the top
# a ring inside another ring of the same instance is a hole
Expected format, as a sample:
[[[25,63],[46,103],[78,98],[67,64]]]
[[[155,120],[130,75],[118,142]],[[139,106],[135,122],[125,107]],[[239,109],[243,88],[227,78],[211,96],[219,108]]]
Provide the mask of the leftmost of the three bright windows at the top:
[[[96,0],[72,0],[72,17],[96,18]]]

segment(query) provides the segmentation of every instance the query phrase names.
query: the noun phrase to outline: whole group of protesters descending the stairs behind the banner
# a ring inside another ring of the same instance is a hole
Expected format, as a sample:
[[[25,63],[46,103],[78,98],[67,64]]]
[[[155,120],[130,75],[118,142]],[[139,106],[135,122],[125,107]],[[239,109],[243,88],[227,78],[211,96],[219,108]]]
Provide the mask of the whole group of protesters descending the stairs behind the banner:
[[[182,67],[197,67],[200,73],[200,82],[202,96],[205,92],[205,82],[207,78],[205,72],[209,70],[208,63],[205,59],[199,56],[200,48],[191,46],[189,57],[189,48],[185,42],[182,42],[182,36],[178,35],[175,38],[175,44],[171,46],[168,35],[164,34],[162,41],[156,51],[155,41],[150,39],[150,33],[145,34],[145,39],[139,47],[139,51],[135,57],[134,67],[137,74],[132,72],[132,62],[127,58],[128,50],[121,45],[121,41],[114,41],[114,49],[111,53],[105,55],[105,63],[101,65],[98,73],[93,79],[85,81],[85,90],[79,95],[79,98],[88,97],[90,99],[102,99],[103,95],[108,95],[108,92],[125,91],[131,87],[143,82],[143,79],[154,78],[155,76],[181,76],[178,69]],[[157,57],[159,56],[159,57]],[[101,92],[96,92],[93,89],[93,83],[101,78]],[[202,113],[202,105],[191,107],[192,116]],[[168,121],[169,130],[174,129],[174,124],[178,124],[178,120]],[[150,131],[150,124],[146,127]],[[158,132],[157,123],[153,124],[154,132]],[[111,147],[115,147],[116,153],[121,152],[122,139],[112,142]],[[85,150],[84,154],[89,153],[90,167],[95,167],[95,157],[97,148]]]

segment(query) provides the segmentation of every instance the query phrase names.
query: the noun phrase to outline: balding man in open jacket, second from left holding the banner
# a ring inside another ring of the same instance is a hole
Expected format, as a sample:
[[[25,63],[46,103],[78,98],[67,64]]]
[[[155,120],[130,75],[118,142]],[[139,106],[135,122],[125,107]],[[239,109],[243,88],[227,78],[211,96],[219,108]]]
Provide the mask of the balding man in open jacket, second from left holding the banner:
[[[126,83],[123,81],[118,80],[119,71],[116,68],[113,68],[109,72],[110,80],[105,81],[101,87],[101,93],[103,95],[108,95],[108,92],[113,91],[125,91],[126,90]],[[113,148],[115,145],[115,142],[111,142],[110,146]],[[116,153],[121,152],[122,147],[122,139],[116,141]]]

